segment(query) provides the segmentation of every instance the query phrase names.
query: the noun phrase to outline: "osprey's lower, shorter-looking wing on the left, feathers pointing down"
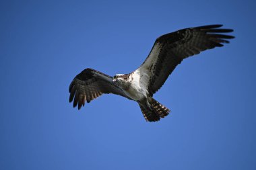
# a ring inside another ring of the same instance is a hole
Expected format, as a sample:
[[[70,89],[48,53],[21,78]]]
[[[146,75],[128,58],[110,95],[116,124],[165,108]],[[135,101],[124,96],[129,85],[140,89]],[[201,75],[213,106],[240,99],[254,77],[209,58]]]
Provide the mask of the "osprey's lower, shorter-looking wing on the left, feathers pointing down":
[[[86,101],[89,103],[103,93],[113,93],[127,97],[117,85],[112,83],[112,77],[94,69],[85,69],[75,76],[69,85],[69,93],[69,102],[73,101],[74,108],[78,103],[78,109],[82,105],[84,106]]]

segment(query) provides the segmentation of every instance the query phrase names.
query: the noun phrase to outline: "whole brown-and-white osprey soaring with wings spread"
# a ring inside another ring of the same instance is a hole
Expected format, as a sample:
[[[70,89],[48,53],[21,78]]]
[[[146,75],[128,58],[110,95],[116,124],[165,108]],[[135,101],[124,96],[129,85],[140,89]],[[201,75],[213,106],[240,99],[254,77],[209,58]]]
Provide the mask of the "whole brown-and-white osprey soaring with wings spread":
[[[79,110],[86,101],[89,103],[104,93],[113,93],[136,101],[146,121],[156,122],[170,110],[153,98],[154,93],[183,59],[223,46],[229,42],[227,39],[234,38],[222,34],[233,30],[220,27],[222,25],[185,28],[160,36],[142,65],[129,74],[111,77],[94,69],[85,69],[69,85],[69,102],[73,101],[74,108],[78,104]]]

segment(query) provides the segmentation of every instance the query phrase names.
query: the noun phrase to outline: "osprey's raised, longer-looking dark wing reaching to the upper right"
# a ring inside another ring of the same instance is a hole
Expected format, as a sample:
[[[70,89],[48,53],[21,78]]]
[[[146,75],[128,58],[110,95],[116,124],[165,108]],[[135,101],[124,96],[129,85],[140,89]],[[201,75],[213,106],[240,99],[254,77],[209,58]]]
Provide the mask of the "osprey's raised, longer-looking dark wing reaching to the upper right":
[[[184,58],[199,54],[203,50],[223,46],[222,43],[229,42],[226,39],[234,38],[221,34],[233,30],[220,27],[222,25],[186,28],[157,38],[150,54],[137,69],[139,73],[148,75],[142,77],[145,79],[142,81],[147,82],[150,95],[162,87],[170,73]]]

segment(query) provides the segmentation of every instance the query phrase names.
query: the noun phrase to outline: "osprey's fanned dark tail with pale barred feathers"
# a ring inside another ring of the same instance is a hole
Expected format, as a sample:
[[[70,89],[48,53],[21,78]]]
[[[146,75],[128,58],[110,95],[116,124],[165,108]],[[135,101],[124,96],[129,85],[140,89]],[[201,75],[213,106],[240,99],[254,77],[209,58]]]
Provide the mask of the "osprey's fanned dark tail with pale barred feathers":
[[[156,122],[160,120],[160,118],[164,118],[170,113],[168,108],[166,108],[152,97],[150,97],[146,103],[139,103],[139,107],[144,118],[148,122]]]

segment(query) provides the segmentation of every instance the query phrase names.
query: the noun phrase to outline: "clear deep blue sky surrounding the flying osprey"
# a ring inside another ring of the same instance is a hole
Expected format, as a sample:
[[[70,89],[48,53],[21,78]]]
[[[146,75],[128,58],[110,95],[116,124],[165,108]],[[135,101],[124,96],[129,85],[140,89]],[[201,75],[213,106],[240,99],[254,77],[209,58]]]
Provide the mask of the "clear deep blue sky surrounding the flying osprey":
[[[255,1],[1,1],[0,169],[256,169]],[[68,102],[88,67],[130,73],[154,40],[224,24],[223,48],[187,58],[154,97]]]

